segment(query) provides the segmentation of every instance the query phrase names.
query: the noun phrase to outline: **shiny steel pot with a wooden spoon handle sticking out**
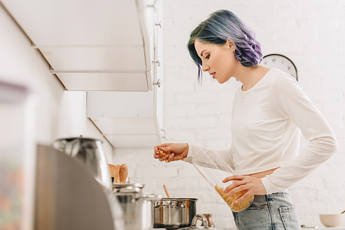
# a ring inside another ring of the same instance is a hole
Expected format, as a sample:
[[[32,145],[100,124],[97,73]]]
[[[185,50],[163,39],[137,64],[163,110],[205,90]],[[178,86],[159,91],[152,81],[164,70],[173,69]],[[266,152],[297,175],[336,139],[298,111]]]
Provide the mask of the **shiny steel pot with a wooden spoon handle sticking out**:
[[[197,214],[197,198],[163,198],[153,207],[154,227],[174,228],[188,227]]]

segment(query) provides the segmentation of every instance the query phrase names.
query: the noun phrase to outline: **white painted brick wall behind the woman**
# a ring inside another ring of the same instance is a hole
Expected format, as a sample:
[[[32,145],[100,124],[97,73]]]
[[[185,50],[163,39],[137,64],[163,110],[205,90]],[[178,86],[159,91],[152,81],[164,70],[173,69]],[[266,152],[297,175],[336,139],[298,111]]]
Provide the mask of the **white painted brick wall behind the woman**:
[[[191,30],[218,9],[239,16],[257,34],[264,54],[288,56],[297,66],[299,83],[333,127],[339,152],[289,189],[301,224],[317,225],[319,213],[345,209],[345,1],[200,1],[164,0],[164,127],[166,142],[190,142],[224,149],[230,145],[230,112],[239,86],[224,85],[197,68],[186,50]],[[301,149],[306,146],[302,138]],[[145,191],[164,196],[199,198],[198,212],[213,213],[217,228],[234,227],[230,209],[186,163],[159,163],[152,149],[115,149],[114,163],[127,163],[130,178]],[[343,222],[342,226],[345,226]]]

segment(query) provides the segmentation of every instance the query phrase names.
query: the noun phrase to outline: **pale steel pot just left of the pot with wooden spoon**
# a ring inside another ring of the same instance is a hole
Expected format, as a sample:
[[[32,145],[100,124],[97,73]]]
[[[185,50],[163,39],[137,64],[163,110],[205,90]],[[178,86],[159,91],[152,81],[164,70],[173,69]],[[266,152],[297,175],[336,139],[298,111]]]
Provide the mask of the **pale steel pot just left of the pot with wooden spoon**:
[[[113,195],[121,207],[121,214],[115,220],[123,224],[121,230],[152,230],[152,202],[160,200],[161,196],[116,191],[113,191]]]

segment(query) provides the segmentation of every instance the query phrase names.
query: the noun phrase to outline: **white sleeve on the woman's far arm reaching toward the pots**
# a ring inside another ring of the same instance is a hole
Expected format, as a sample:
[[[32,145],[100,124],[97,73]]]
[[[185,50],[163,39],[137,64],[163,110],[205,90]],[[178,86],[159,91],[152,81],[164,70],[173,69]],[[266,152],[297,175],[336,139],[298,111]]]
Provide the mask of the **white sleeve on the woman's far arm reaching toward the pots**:
[[[201,154],[201,151],[199,150],[204,150]],[[199,151],[199,152],[198,152]],[[234,174],[235,172],[235,163],[233,160],[233,149],[230,147],[227,150],[215,150],[212,147],[199,147],[198,145],[193,145],[188,143],[188,155],[186,158],[184,158],[184,162],[186,163],[197,163],[200,162],[201,164],[205,163],[205,154],[212,158],[215,163],[215,167],[219,166],[219,168],[223,169],[224,165],[230,166],[230,172]],[[206,156],[206,157],[207,157]],[[210,167],[210,163],[208,163],[208,167]],[[228,168],[228,167],[226,167]]]

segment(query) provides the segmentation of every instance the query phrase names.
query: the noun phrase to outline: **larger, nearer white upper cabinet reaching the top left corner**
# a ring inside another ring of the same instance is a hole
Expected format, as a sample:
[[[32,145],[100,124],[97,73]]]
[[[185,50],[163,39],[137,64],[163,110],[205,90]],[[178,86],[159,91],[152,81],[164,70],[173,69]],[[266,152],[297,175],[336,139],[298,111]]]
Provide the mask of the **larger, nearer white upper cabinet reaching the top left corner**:
[[[67,90],[152,90],[144,1],[0,1]]]

